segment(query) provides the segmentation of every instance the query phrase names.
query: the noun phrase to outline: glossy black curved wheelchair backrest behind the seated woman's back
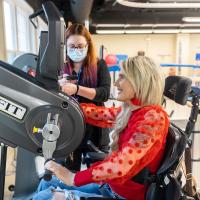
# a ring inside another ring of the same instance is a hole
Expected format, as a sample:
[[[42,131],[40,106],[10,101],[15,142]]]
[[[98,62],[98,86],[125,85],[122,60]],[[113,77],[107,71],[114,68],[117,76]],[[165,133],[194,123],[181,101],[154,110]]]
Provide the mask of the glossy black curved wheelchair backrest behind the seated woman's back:
[[[173,170],[179,163],[187,143],[187,137],[177,128],[170,126],[167,142],[165,147],[164,159],[161,163],[158,175],[166,174],[169,170]]]

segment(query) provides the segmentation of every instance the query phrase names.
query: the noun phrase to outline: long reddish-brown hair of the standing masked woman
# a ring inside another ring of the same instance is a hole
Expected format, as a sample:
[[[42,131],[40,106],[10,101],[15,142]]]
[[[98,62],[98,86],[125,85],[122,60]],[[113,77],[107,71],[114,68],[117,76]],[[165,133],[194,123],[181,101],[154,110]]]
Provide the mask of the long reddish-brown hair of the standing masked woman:
[[[97,57],[95,53],[94,44],[91,39],[90,32],[82,24],[72,24],[66,30],[66,42],[71,35],[81,35],[85,37],[88,43],[88,53],[83,63],[83,84],[86,86],[94,87],[97,84]],[[73,61],[66,55],[67,69],[66,71],[71,74],[73,69]]]

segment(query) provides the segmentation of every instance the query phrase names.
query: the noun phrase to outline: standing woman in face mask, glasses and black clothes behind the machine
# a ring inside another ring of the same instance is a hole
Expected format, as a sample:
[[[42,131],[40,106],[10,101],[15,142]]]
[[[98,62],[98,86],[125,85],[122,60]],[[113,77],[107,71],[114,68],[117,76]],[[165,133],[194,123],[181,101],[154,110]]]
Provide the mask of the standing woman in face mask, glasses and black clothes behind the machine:
[[[76,75],[77,80],[65,82],[61,89],[74,96],[79,103],[103,105],[110,95],[110,74],[104,60],[98,60],[89,31],[82,24],[73,24],[66,31],[66,64],[62,74]],[[82,153],[91,140],[102,151],[108,151],[107,129],[86,125],[85,138],[80,147],[66,161],[66,166],[79,171]]]

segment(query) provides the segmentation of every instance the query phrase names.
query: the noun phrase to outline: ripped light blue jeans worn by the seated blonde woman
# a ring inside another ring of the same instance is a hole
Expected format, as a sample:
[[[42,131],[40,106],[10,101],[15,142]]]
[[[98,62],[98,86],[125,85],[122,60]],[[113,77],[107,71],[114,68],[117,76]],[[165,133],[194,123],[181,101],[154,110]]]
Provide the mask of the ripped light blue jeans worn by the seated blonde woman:
[[[81,197],[107,197],[114,199],[124,199],[113,192],[108,184],[99,185],[91,183],[81,187],[67,186],[58,180],[55,176],[53,176],[51,181],[47,182],[43,179],[41,180],[33,200],[52,200],[52,190],[67,192],[67,194],[71,196],[71,198],[69,197],[67,200],[79,200]]]

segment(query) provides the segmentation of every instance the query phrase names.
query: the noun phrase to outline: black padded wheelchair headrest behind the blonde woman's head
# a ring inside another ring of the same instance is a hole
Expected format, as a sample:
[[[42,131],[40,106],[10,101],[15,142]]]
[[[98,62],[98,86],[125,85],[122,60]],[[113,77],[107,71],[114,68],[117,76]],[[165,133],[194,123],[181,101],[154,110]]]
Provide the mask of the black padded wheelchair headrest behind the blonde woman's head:
[[[178,104],[185,105],[191,92],[191,79],[183,76],[168,76],[165,79],[164,95]]]

